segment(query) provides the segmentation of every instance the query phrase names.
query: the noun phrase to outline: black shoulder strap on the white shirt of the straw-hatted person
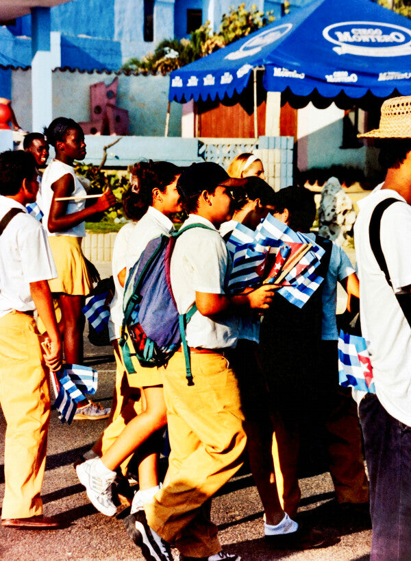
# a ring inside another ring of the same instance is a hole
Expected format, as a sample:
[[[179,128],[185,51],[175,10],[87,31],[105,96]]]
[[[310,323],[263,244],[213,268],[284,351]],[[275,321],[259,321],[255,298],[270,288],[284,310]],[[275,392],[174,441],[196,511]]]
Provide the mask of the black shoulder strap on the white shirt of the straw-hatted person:
[[[370,225],[369,225],[371,250],[373,251],[373,254],[375,256],[379,268],[384,273],[386,277],[386,281],[391,288],[393,287],[393,283],[391,283],[391,278],[388,272],[386,259],[381,247],[380,231],[381,231],[381,219],[382,219],[382,215],[384,214],[384,211],[386,211],[386,208],[388,208],[388,206],[391,206],[391,204],[395,202],[401,202],[401,200],[396,199],[394,197],[389,197],[379,202],[373,210],[373,214],[371,215]],[[411,327],[411,294],[395,294],[395,298],[397,298],[399,306],[401,307],[401,310],[403,311],[403,314],[406,320],[408,321],[408,324],[410,324]]]

